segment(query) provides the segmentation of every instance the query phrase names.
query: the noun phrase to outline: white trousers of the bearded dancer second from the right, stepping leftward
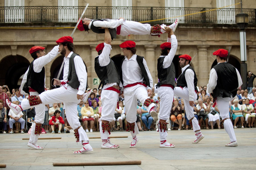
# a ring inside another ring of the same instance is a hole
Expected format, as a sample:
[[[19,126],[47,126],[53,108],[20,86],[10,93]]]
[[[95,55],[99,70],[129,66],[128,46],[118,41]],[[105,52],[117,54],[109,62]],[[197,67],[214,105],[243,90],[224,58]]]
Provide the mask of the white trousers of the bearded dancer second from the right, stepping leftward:
[[[189,105],[188,88],[187,87],[183,87],[183,88],[175,87],[174,88],[174,96],[178,96],[183,99],[187,118],[188,118],[188,120],[192,119],[194,117],[194,111],[193,111],[193,107],[191,107]],[[196,98],[197,98],[197,95],[195,93],[194,94],[194,102],[196,101]],[[196,118],[192,119],[192,125],[193,125],[194,131],[200,130],[200,126],[199,126]]]

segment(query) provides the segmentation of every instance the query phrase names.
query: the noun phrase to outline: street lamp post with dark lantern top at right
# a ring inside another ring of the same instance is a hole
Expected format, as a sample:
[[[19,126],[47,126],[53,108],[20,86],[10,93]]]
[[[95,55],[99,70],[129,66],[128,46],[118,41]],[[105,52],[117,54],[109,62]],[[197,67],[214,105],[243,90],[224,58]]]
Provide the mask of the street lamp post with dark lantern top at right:
[[[236,15],[236,24],[240,29],[240,56],[241,56],[241,78],[243,81],[242,89],[247,88],[247,56],[246,56],[246,32],[245,29],[249,23],[248,14],[242,13],[242,4],[241,4],[241,13]]]

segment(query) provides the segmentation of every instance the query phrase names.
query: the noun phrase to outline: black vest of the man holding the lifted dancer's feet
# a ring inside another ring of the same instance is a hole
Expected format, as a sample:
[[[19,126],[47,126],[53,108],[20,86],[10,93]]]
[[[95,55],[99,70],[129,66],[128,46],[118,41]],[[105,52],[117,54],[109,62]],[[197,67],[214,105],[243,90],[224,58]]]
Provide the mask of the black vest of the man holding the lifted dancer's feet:
[[[173,62],[167,68],[163,68],[165,57],[159,57],[157,59],[157,77],[159,82],[157,87],[160,87],[162,84],[171,84],[175,86],[175,66]]]

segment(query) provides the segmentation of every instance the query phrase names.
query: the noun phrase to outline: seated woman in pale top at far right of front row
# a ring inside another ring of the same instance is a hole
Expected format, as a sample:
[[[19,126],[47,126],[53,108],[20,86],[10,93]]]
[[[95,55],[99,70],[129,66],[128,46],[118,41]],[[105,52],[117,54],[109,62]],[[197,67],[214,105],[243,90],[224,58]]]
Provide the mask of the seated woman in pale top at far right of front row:
[[[254,107],[250,104],[249,99],[245,99],[245,104],[242,106],[242,110],[244,113],[245,121],[248,121],[248,127],[253,127],[253,123],[255,121],[255,112]]]

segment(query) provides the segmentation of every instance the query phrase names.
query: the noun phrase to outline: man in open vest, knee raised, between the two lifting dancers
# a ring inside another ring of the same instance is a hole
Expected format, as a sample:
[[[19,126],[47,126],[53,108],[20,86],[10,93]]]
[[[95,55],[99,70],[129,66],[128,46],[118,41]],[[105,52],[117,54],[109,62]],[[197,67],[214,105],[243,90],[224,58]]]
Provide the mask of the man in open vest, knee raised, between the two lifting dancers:
[[[120,78],[122,94],[125,100],[125,111],[127,121],[127,131],[130,130],[132,142],[130,147],[135,147],[138,139],[139,129],[135,123],[137,120],[137,100],[143,103],[148,113],[153,119],[157,120],[156,104],[150,99],[152,94],[153,79],[149,72],[146,60],[144,57],[136,55],[135,42],[126,41],[119,46],[124,53],[124,59],[121,61]]]

